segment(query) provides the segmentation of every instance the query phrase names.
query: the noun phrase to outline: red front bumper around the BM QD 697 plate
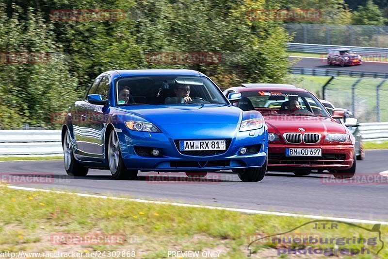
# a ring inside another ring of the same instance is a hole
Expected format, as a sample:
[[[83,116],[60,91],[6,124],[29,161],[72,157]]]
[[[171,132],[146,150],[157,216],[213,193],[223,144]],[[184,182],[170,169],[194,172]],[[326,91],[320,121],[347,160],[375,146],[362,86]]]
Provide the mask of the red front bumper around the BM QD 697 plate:
[[[322,156],[286,156],[286,148],[322,148]],[[354,162],[354,145],[284,145],[270,144],[268,167],[272,171],[344,170]]]

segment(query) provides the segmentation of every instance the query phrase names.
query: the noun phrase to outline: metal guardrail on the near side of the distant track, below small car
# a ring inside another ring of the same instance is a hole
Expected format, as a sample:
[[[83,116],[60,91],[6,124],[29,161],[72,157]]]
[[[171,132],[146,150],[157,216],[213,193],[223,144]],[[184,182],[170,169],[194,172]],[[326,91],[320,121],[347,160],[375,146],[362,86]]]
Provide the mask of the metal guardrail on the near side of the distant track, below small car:
[[[351,70],[340,70],[340,69],[310,69],[291,67],[290,72],[292,74],[301,75],[323,75],[323,76],[355,76],[355,77],[373,77],[373,78],[388,78],[388,73],[378,72],[366,72],[366,71],[351,71]]]

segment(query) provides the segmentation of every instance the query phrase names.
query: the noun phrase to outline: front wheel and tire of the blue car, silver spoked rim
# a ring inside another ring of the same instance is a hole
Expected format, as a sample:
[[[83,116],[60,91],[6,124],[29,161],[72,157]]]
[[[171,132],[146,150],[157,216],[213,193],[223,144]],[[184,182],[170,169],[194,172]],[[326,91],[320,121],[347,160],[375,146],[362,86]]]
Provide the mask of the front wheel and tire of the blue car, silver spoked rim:
[[[128,170],[121,156],[120,141],[118,140],[116,131],[112,130],[109,133],[108,140],[108,164],[112,176],[116,180],[135,180],[137,170]]]

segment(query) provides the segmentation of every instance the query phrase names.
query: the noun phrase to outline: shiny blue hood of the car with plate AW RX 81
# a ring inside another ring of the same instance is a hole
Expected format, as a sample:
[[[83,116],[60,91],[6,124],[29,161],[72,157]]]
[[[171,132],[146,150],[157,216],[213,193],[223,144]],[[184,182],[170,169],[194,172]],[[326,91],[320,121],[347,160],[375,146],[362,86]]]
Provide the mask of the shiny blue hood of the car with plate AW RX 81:
[[[156,125],[172,124],[237,124],[242,110],[224,104],[178,104],[120,107]]]

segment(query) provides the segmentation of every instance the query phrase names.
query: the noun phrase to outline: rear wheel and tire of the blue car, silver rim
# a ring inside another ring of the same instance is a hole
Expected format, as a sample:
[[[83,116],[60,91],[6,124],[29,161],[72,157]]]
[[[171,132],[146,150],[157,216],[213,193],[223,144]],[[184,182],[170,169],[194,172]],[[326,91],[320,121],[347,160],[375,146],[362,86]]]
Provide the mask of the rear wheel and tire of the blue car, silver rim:
[[[65,137],[64,137],[62,147],[64,149],[64,166],[65,166],[67,175],[86,176],[86,174],[88,174],[89,169],[81,165],[81,163],[75,159],[73,154],[70,134],[67,129],[65,132]]]

